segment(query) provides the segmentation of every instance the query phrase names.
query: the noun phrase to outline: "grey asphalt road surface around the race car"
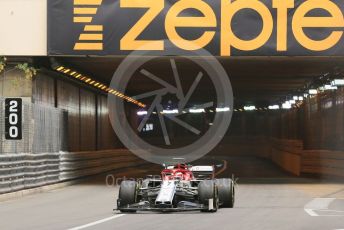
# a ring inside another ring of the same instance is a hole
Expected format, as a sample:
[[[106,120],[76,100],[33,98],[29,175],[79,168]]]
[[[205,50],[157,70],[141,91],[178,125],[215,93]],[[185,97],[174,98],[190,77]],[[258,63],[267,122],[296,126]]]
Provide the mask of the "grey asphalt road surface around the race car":
[[[220,161],[220,159],[217,159]],[[146,165],[90,178],[80,184],[0,203],[0,229],[344,229],[344,182],[295,178],[253,157],[227,158],[236,167],[219,177],[239,177],[233,209],[216,213],[112,211],[118,186],[113,178],[159,172]],[[241,166],[240,166],[241,165]]]

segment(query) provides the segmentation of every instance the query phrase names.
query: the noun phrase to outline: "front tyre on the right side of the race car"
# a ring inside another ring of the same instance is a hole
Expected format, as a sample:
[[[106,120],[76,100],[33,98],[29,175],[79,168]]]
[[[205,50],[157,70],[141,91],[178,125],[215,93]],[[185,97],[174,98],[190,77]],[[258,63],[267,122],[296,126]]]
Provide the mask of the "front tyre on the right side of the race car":
[[[216,212],[219,207],[218,190],[213,180],[204,180],[198,184],[199,202],[208,207],[209,199],[213,199],[213,209],[203,209],[201,212]]]

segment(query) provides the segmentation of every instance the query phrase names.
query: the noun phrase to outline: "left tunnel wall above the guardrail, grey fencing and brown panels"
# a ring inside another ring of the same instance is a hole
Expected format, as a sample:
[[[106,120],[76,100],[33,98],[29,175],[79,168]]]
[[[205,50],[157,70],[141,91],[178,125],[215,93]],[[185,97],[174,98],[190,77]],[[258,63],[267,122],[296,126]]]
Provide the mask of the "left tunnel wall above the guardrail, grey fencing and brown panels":
[[[7,141],[1,132],[0,152],[78,152],[123,147],[110,124],[105,94],[45,69],[29,80],[15,65],[8,64],[1,73],[0,99],[23,99],[23,140]]]

